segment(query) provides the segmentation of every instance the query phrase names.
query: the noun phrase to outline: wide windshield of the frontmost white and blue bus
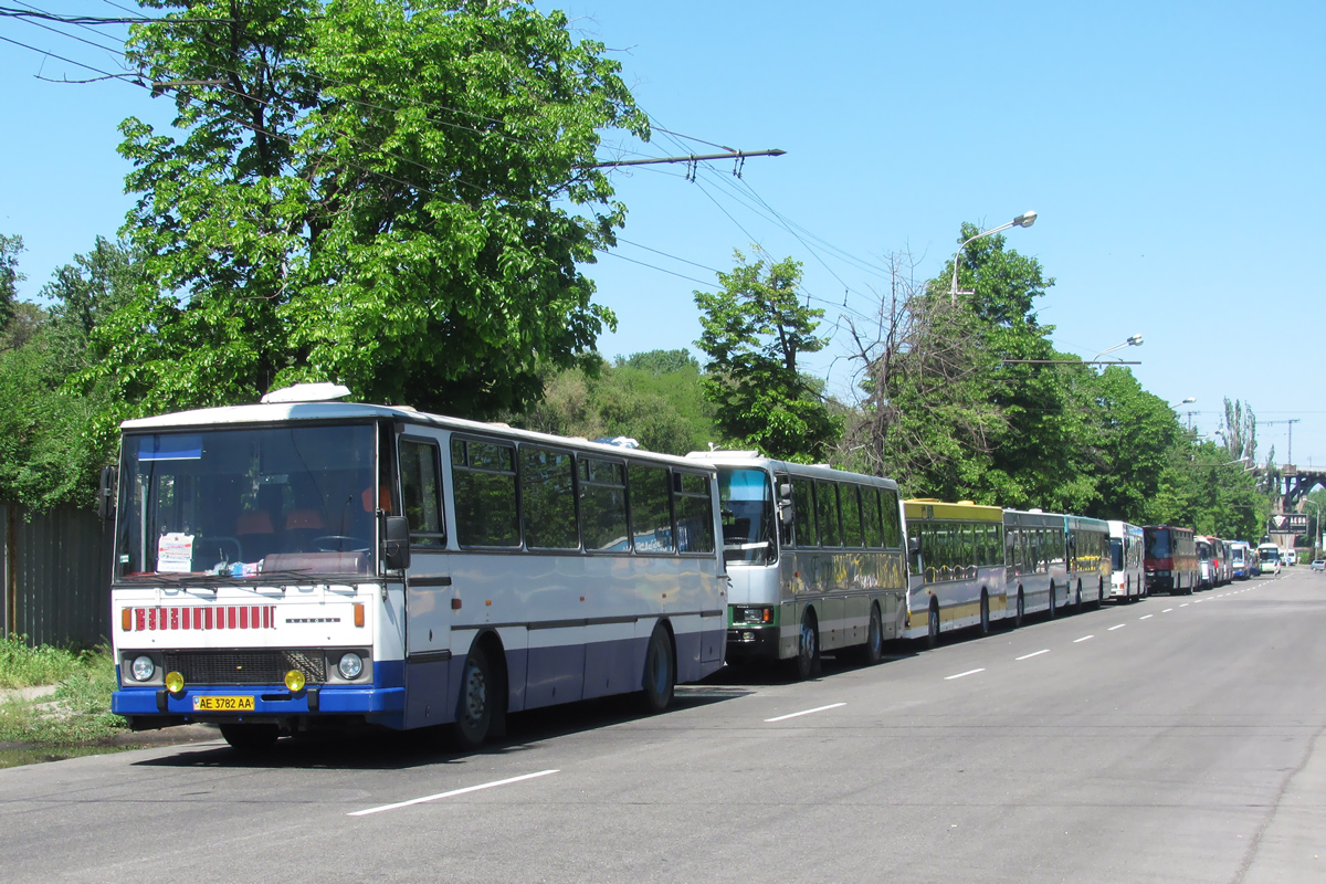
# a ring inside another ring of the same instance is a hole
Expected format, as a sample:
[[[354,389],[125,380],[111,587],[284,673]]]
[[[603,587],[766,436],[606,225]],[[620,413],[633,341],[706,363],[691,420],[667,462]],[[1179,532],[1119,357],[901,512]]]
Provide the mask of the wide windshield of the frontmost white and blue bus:
[[[374,427],[129,435],[115,577],[373,574]]]

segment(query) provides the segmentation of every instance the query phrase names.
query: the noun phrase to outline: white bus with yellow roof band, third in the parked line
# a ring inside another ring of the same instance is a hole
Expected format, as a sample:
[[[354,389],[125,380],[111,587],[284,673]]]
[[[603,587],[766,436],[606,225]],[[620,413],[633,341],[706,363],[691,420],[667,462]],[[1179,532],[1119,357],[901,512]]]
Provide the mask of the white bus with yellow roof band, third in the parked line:
[[[903,504],[907,517],[906,637],[930,644],[941,632],[1008,616],[1004,569],[1004,510],[971,501],[934,498]]]

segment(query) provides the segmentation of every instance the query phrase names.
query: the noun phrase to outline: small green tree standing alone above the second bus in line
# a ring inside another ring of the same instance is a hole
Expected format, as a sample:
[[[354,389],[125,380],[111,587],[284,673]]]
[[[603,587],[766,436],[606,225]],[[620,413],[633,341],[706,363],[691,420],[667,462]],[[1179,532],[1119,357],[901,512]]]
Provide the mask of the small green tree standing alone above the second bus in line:
[[[797,358],[827,343],[814,334],[823,310],[801,306],[801,265],[790,257],[768,269],[741,252],[736,260],[719,274],[721,292],[695,293],[704,330],[696,345],[709,357],[704,395],[729,440],[772,457],[818,459],[842,435],[842,421]]]

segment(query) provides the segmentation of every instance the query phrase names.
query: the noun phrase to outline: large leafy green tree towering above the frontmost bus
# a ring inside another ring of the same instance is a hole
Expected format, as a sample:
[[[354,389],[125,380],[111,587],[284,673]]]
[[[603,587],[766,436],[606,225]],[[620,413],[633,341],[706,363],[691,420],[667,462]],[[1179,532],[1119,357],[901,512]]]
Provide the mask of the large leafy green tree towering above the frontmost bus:
[[[172,3],[127,56],[176,129],[122,125],[139,288],[98,333],[137,411],[297,380],[484,416],[591,358],[577,262],[625,208],[598,130],[647,127],[603,46],[518,0]],[[597,359],[597,357],[593,357]],[[135,408],[130,408],[134,411]]]

